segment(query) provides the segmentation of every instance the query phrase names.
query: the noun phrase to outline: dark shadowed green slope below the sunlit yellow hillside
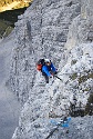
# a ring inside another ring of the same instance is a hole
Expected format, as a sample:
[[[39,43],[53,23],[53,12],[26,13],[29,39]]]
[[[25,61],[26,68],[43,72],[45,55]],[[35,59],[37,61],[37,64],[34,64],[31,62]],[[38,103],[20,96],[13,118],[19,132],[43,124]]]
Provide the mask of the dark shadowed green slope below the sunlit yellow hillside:
[[[0,13],[0,38],[7,37],[12,31],[14,22],[18,21],[18,16],[22,14],[25,9],[9,10]]]

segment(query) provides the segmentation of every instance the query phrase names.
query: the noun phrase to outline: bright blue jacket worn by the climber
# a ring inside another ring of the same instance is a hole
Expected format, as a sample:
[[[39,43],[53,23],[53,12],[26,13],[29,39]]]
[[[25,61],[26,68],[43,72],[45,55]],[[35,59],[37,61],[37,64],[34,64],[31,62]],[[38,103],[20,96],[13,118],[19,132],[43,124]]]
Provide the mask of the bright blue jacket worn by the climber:
[[[55,68],[54,68],[52,62],[51,62],[50,66],[45,64],[45,66],[42,67],[42,72],[45,72],[48,77],[51,76],[50,71],[55,72]]]

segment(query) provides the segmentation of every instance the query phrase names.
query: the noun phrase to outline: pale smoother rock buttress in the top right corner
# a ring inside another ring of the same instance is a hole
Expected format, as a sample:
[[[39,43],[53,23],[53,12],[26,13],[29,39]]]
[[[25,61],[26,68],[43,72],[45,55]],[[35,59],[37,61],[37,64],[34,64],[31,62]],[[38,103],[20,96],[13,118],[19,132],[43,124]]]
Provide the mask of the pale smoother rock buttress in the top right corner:
[[[68,34],[69,39],[66,42],[68,49],[71,49],[79,43],[93,41],[93,2],[91,0],[82,0],[81,4],[81,14],[73,20],[70,27],[70,33]]]

